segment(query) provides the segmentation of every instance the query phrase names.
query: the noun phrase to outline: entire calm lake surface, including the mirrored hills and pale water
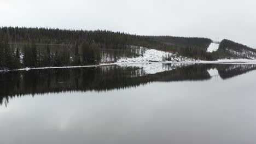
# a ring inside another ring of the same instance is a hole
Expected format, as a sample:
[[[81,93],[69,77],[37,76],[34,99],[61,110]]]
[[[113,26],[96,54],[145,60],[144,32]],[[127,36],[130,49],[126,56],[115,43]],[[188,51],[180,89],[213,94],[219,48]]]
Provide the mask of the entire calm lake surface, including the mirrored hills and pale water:
[[[256,65],[0,74],[0,143],[255,143]]]

